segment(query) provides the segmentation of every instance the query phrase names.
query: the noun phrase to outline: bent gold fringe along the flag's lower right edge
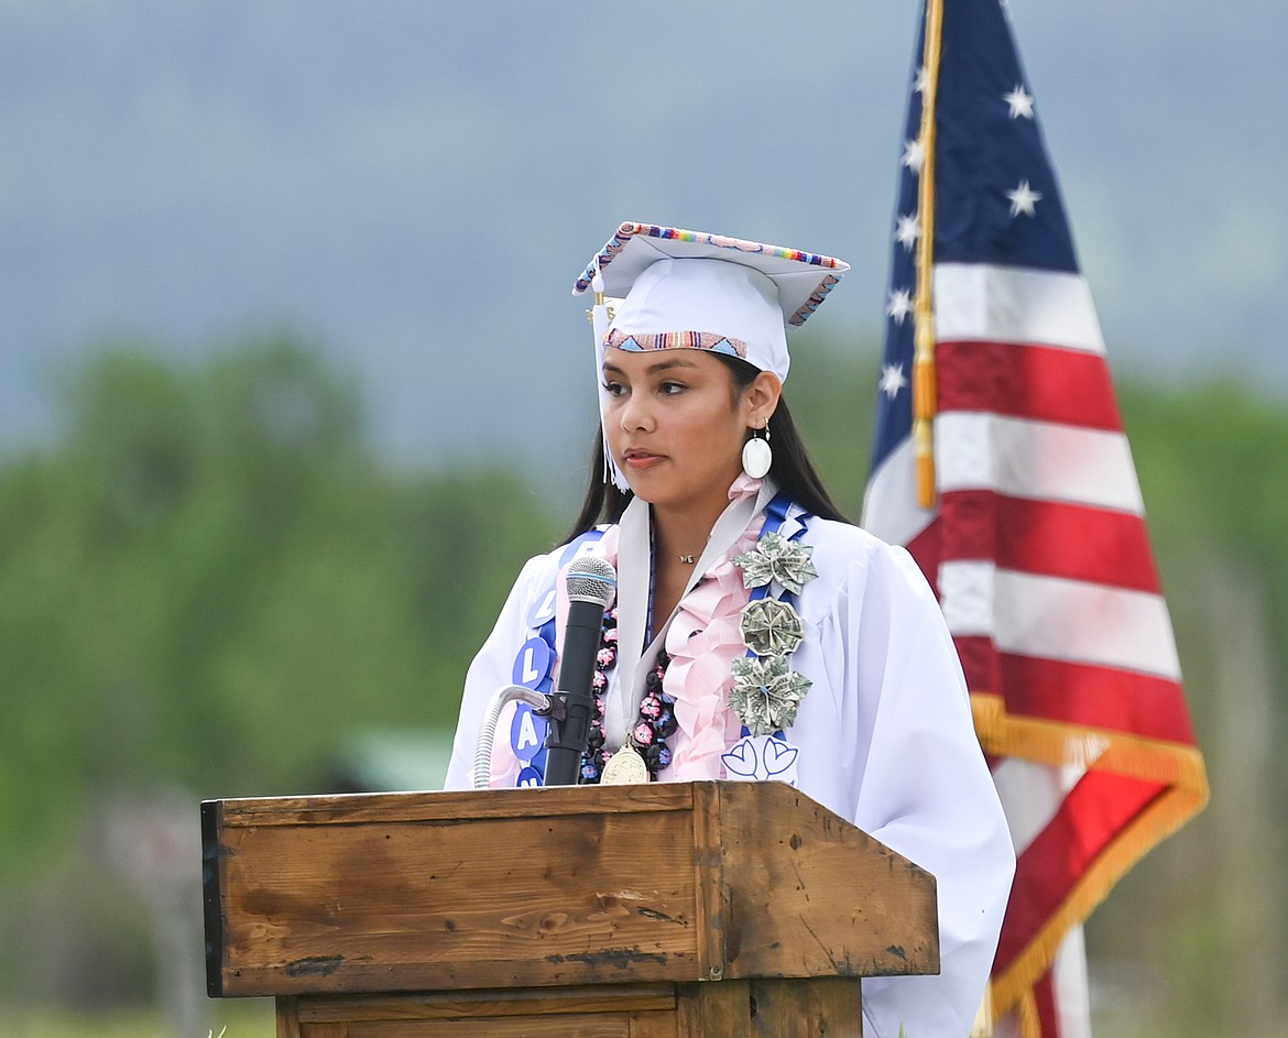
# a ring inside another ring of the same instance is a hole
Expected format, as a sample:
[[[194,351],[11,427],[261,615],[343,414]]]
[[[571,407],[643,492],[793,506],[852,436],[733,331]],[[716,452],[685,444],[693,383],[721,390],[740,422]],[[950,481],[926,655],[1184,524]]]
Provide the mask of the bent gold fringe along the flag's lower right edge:
[[[972,692],[975,730],[984,752],[1055,768],[1075,765],[1166,786],[1167,789],[1100,853],[1011,966],[993,977],[993,1015],[1019,1011],[1024,1038],[1038,1035],[1033,985],[1051,968],[1064,936],[1081,925],[1114,885],[1208,801],[1203,756],[1193,746],[1106,729],[1016,717],[1001,695]]]

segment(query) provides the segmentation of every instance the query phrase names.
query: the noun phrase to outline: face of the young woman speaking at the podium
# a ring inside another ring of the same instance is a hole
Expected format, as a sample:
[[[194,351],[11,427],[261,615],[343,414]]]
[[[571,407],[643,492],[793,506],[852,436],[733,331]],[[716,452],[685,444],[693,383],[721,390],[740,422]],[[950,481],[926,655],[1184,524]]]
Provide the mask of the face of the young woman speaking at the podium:
[[[757,389],[766,379],[772,394]],[[719,515],[742,471],[747,430],[762,426],[777,404],[777,382],[762,373],[735,392],[733,372],[703,350],[609,346],[604,429],[635,496],[654,507]]]

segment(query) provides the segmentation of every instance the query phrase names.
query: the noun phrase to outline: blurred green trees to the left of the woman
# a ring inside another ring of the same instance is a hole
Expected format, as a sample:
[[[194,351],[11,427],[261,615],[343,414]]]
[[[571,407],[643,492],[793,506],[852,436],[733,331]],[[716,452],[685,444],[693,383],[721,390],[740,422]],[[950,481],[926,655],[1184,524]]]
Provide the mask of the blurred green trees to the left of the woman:
[[[122,345],[0,467],[0,868],[104,789],[318,792],[354,728],[455,717],[554,523],[505,474],[381,464],[353,385],[283,335]]]

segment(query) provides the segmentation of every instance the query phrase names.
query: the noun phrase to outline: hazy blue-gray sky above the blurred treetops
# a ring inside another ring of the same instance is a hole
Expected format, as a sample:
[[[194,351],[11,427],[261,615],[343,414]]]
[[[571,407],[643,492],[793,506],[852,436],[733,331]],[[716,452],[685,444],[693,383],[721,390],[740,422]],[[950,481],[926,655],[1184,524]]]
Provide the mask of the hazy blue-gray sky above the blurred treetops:
[[[622,219],[849,260],[871,348],[917,6],[0,0],[0,448],[107,336],[289,323],[399,456],[580,458]],[[1010,6],[1115,370],[1282,394],[1288,6]]]

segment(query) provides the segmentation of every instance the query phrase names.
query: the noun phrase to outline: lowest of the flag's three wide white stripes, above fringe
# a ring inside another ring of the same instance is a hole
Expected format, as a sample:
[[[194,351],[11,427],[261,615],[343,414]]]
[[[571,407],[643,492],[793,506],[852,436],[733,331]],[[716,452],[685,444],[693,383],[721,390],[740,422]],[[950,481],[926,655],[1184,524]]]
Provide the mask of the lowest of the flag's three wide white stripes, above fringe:
[[[1159,595],[1016,573],[989,561],[945,561],[939,596],[949,631],[992,637],[1002,652],[1181,680]]]

